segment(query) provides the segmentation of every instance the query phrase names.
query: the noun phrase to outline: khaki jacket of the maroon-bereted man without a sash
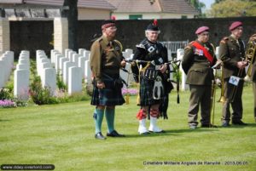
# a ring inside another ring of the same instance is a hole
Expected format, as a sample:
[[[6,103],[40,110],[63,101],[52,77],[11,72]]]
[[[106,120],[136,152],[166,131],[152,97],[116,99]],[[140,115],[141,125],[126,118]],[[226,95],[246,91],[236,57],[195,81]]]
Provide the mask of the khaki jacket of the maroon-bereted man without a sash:
[[[230,76],[236,76],[239,68],[237,62],[245,58],[245,47],[241,39],[238,40],[232,36],[224,37],[219,43],[219,58],[223,61],[223,76],[224,79],[229,79]],[[245,70],[241,71],[240,77],[245,77]]]

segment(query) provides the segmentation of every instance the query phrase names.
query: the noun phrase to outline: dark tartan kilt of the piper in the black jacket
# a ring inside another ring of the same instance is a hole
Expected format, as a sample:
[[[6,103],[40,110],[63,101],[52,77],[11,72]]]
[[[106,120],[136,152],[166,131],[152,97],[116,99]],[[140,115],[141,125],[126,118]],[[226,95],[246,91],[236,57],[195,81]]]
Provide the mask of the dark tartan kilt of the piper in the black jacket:
[[[140,105],[156,105],[160,104],[161,100],[154,100],[153,98],[154,80],[147,80],[141,77],[140,82]]]

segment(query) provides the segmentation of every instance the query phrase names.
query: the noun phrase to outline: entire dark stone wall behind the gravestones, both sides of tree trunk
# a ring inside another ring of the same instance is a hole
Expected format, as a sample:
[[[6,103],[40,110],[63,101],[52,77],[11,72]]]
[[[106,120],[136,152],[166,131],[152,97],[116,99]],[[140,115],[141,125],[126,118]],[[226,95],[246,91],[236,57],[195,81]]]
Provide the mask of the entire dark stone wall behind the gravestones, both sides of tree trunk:
[[[192,41],[195,40],[195,30],[199,26],[211,28],[210,41],[215,45],[220,39],[228,36],[228,27],[235,20],[244,23],[242,39],[247,42],[248,37],[256,32],[256,17],[219,18],[219,19],[172,19],[158,20],[161,34],[160,41]],[[144,37],[144,29],[151,20],[117,20],[117,39],[125,48],[135,48]],[[101,34],[101,20],[79,21],[79,48],[90,50],[91,40],[95,34]],[[53,21],[10,21],[10,50],[15,52],[15,57],[21,50],[29,50],[31,57],[35,58],[37,49],[44,50],[49,55],[53,48],[49,43],[53,41]]]

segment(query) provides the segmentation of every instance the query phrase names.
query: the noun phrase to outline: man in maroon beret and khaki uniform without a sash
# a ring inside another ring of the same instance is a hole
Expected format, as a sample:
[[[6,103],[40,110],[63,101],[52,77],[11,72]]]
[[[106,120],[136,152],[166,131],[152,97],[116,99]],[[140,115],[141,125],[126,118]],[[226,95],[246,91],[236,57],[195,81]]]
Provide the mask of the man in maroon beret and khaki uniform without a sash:
[[[241,121],[241,95],[244,83],[243,78],[246,76],[245,66],[247,66],[247,62],[243,61],[245,58],[245,46],[240,38],[242,35],[242,23],[240,21],[233,22],[230,25],[230,31],[230,37],[224,37],[219,44],[219,56],[224,64],[224,97],[226,99],[222,111],[223,127],[230,126],[230,105],[233,109],[232,123],[236,125],[246,125],[246,123]],[[231,76],[241,78],[236,88],[229,83]],[[232,98],[231,96],[234,97]]]

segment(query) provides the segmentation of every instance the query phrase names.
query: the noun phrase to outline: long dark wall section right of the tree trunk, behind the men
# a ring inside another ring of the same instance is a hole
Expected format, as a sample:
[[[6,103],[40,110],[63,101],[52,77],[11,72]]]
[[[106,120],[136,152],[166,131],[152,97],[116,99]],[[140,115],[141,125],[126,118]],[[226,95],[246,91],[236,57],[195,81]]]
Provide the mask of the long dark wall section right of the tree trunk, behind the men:
[[[244,24],[242,39],[247,42],[250,35],[256,32],[256,17],[216,18],[216,19],[170,19],[158,20],[160,26],[160,41],[193,41],[195,30],[199,26],[209,26],[210,41],[217,45],[222,37],[229,36],[228,30],[233,21],[241,20]],[[90,48],[90,40],[94,34],[101,33],[100,20],[79,21],[79,48]],[[124,48],[135,48],[145,37],[145,28],[151,20],[117,20],[117,39]]]

